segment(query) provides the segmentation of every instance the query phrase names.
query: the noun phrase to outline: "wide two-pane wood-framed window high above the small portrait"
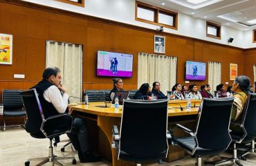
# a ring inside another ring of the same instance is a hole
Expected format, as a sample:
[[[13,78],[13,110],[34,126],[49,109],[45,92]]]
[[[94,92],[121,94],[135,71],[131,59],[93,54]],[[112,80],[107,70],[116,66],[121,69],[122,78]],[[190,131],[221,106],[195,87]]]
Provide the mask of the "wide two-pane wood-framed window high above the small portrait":
[[[136,1],[136,21],[177,29],[178,13]]]

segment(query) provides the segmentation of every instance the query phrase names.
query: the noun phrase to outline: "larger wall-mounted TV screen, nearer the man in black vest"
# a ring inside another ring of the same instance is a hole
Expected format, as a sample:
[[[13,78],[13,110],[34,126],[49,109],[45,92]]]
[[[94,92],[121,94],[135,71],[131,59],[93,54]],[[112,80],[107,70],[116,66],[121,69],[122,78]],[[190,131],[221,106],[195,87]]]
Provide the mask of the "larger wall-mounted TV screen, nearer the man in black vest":
[[[97,75],[132,77],[133,55],[98,50]]]

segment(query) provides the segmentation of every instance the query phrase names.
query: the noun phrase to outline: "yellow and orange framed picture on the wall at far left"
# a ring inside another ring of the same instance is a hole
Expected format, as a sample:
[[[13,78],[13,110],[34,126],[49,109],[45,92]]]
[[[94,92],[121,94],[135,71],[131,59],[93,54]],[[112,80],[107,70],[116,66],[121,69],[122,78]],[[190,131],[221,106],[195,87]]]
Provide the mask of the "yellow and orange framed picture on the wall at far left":
[[[12,64],[12,35],[0,33],[0,64]]]

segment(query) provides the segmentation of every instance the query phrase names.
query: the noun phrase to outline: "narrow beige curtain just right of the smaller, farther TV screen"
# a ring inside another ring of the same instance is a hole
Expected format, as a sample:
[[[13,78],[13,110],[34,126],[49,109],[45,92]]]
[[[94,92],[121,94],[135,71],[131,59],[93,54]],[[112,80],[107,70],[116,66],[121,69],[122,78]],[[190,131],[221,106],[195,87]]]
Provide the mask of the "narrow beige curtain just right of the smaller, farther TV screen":
[[[208,63],[208,84],[211,86],[211,93],[216,91],[216,86],[221,84],[221,63],[209,62]]]

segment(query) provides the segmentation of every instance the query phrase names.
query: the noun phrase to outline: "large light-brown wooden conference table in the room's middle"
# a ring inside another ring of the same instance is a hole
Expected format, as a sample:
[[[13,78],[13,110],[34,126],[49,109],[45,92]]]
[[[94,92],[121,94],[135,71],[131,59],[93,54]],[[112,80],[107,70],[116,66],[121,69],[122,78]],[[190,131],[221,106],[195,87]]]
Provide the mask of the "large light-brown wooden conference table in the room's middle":
[[[169,119],[181,116],[196,116],[200,103],[201,100],[191,100],[192,108],[188,108],[186,107],[187,100],[170,100],[168,102]],[[131,163],[125,164],[124,162],[117,160],[116,149],[112,148],[112,129],[113,125],[120,126],[122,106],[115,109],[111,103],[89,102],[89,104],[71,103],[69,104],[69,107],[71,107],[74,112],[77,112],[77,116],[97,122],[98,127],[103,131],[106,136],[105,138],[107,138],[106,142],[108,146],[111,148],[111,160],[113,166],[131,165]],[[181,111],[181,107],[183,108],[183,111]],[[100,148],[101,147],[99,147],[99,149]]]

